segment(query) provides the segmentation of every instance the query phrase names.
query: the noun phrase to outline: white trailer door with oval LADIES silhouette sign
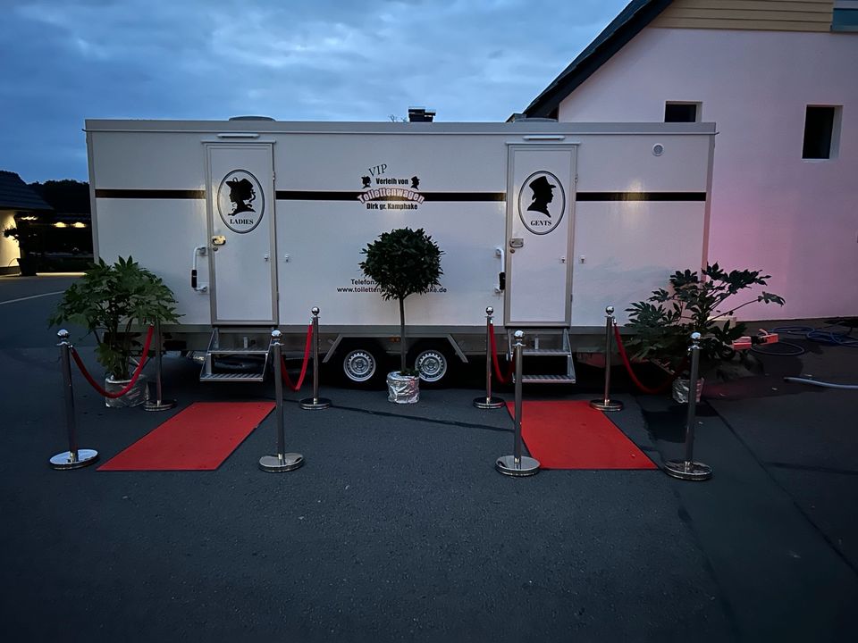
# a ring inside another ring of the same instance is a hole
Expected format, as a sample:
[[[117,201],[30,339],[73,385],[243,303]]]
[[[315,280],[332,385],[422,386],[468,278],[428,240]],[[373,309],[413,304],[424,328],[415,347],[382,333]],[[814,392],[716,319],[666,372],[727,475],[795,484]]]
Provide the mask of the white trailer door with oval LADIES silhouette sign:
[[[206,144],[212,318],[276,323],[273,147]]]

